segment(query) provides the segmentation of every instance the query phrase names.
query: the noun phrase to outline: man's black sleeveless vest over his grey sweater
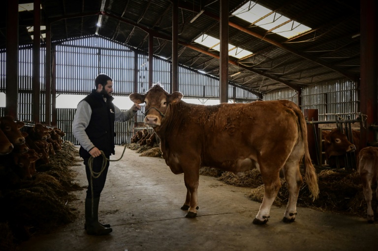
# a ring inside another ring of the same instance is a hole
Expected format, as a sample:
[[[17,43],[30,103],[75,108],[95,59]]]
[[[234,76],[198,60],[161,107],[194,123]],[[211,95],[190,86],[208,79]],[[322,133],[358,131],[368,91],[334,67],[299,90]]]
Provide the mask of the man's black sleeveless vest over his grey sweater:
[[[113,97],[104,101],[102,94],[92,90],[92,93],[83,100],[88,102],[92,109],[91,120],[85,129],[89,139],[99,150],[102,150],[106,156],[114,154],[114,137],[115,137],[115,114]],[[90,158],[91,155],[83,147],[79,150],[80,157]]]

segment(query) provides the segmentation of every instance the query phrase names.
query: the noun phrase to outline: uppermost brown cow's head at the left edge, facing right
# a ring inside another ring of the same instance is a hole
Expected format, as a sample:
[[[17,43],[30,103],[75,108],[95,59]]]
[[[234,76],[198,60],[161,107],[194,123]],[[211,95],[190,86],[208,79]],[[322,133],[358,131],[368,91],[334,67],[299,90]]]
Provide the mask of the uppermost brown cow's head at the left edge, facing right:
[[[25,138],[19,130],[24,125],[25,123],[22,121],[15,122],[12,116],[0,117],[0,129],[13,145],[25,143]]]

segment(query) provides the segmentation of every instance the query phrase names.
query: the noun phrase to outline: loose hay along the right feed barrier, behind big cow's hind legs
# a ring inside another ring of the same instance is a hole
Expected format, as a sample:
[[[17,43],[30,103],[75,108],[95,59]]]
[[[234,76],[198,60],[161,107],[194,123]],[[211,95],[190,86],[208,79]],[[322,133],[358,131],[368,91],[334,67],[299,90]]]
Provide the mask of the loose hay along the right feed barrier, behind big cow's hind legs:
[[[254,201],[262,202],[264,185],[261,175],[256,169],[248,171],[240,177],[231,172],[225,172],[219,180],[229,185],[251,187],[248,197]],[[281,184],[282,187],[273,203],[275,206],[286,206],[288,201],[289,193],[284,179],[281,179]],[[297,205],[319,211],[365,217],[367,206],[358,172],[322,170],[318,174],[318,185],[319,198],[313,201],[304,179],[304,184],[299,191]],[[378,206],[375,189],[376,187],[373,187],[373,208]]]

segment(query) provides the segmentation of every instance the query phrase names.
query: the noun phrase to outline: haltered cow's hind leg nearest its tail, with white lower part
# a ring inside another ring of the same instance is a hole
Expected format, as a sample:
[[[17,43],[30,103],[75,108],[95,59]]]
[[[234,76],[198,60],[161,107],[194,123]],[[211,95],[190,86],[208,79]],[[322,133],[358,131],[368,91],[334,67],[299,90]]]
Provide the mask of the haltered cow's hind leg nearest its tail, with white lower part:
[[[296,162],[296,163],[295,163]],[[303,180],[299,171],[299,163],[297,161],[290,162],[288,160],[284,166],[284,178],[289,192],[289,200],[286,205],[284,219],[286,223],[294,222],[297,214],[297,200],[299,189],[302,186]]]

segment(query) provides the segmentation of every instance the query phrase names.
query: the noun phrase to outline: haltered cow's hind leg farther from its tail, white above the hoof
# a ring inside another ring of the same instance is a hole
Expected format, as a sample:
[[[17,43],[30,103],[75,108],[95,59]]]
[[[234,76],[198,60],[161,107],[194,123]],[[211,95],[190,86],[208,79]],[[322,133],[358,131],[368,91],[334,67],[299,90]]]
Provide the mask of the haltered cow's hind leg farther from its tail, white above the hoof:
[[[277,170],[275,173],[264,173],[262,171],[261,175],[264,182],[264,198],[262,199],[260,209],[253,220],[253,224],[258,225],[268,222],[273,201],[276,199],[277,193],[281,188],[279,170]]]

